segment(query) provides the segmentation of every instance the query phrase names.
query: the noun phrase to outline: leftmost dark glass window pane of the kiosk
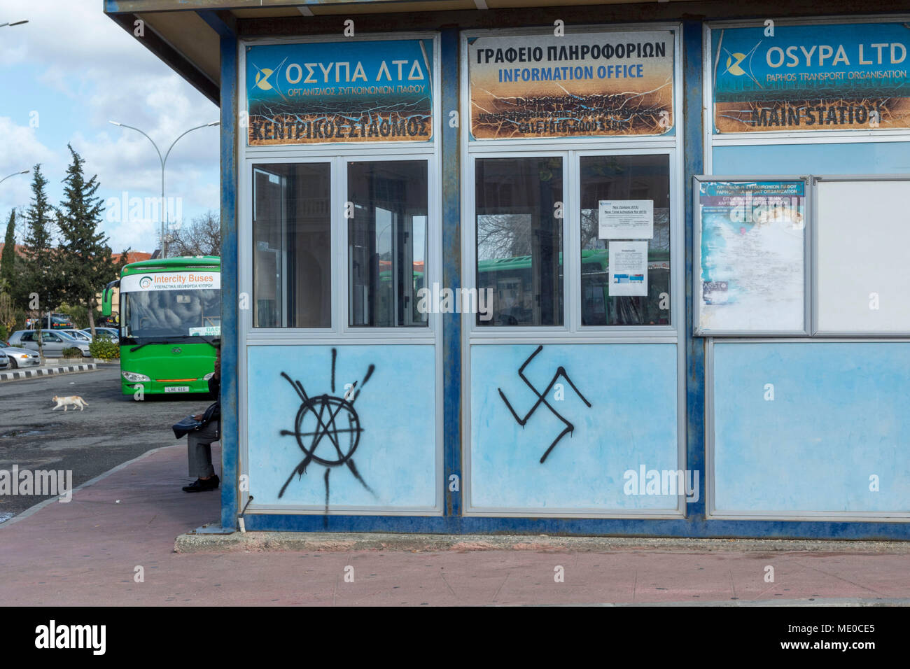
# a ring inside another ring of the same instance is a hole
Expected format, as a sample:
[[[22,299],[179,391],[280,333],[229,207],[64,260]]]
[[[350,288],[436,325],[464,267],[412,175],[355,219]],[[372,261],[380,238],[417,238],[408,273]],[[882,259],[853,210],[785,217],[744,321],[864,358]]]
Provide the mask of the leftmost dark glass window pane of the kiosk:
[[[331,327],[329,167],[253,167],[254,328]]]

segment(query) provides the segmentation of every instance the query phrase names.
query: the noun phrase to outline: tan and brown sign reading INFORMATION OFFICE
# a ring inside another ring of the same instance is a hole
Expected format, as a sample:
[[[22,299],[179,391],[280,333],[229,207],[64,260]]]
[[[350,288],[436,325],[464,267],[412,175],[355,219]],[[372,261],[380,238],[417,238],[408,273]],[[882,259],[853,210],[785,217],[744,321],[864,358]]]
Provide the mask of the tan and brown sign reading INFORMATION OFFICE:
[[[673,44],[669,30],[471,38],[471,135],[669,133]]]

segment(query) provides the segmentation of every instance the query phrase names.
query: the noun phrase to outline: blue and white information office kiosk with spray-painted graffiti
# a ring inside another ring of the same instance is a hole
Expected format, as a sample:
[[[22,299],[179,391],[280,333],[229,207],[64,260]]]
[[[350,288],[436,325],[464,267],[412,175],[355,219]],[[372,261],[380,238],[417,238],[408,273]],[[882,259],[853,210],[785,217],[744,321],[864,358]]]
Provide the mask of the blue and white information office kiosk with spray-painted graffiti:
[[[204,5],[220,531],[910,536],[910,16]]]

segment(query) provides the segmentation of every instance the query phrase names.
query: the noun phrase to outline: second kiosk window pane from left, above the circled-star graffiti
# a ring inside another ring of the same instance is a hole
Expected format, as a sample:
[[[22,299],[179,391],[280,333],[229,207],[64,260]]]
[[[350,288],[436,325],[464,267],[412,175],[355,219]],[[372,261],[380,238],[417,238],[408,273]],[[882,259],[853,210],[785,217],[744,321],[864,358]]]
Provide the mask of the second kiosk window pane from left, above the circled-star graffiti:
[[[352,327],[429,325],[418,309],[427,276],[427,179],[426,160],[349,163]]]

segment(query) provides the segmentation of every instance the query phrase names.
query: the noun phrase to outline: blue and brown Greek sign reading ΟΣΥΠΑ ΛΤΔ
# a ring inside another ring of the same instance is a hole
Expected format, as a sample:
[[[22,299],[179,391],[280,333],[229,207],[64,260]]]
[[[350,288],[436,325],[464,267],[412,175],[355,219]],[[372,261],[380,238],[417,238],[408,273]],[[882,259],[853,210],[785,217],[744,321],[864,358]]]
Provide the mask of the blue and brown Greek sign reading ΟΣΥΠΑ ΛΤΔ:
[[[432,40],[249,46],[248,143],[426,142]]]

